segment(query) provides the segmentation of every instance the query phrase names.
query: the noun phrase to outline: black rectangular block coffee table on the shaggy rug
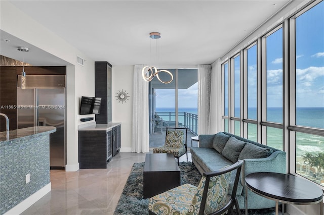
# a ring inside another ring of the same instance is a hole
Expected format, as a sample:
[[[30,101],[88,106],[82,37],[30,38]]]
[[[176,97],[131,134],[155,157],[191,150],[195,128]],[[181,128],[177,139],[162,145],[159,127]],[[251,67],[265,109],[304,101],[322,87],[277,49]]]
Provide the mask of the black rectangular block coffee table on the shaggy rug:
[[[144,199],[180,186],[180,168],[173,154],[148,153],[143,171]]]

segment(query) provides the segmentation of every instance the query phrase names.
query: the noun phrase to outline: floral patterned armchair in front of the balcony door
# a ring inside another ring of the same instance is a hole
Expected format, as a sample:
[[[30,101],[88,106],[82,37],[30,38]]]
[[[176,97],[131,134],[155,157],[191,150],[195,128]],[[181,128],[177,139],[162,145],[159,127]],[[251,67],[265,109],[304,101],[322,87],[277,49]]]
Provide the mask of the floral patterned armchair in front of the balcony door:
[[[187,154],[188,160],[187,132],[187,128],[167,128],[164,146],[153,148],[153,153],[173,153],[178,164],[179,158],[184,154]]]

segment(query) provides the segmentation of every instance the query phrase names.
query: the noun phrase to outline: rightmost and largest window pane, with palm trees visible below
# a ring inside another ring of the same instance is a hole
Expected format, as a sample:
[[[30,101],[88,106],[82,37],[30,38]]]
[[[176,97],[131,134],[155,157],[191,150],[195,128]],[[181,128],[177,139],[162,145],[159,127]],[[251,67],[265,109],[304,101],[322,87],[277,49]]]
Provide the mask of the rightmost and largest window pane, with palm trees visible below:
[[[295,102],[291,139],[295,172],[324,185],[324,2],[291,19],[295,24]],[[321,134],[321,135],[320,135]]]

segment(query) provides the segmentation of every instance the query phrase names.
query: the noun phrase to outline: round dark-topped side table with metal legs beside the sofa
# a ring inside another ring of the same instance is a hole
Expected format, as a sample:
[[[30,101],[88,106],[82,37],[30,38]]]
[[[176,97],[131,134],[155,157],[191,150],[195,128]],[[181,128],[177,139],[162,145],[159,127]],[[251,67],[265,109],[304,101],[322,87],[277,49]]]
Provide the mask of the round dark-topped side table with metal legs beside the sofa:
[[[317,204],[319,214],[323,215],[323,191],[315,184],[294,175],[282,173],[252,173],[245,177],[247,187],[253,192],[275,201],[275,214],[278,214],[278,202],[289,204]],[[246,190],[246,208],[248,208]],[[284,204],[282,207],[284,210]],[[247,214],[246,209],[246,214]]]

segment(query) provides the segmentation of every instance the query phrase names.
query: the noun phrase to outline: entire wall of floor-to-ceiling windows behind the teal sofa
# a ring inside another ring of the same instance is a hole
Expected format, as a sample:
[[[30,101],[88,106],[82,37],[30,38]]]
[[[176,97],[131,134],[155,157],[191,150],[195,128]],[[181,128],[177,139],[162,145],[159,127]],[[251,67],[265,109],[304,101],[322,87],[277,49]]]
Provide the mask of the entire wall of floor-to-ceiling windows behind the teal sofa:
[[[314,1],[227,56],[222,120],[224,131],[285,150],[289,173],[324,189],[323,38],[324,2]]]

